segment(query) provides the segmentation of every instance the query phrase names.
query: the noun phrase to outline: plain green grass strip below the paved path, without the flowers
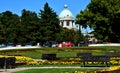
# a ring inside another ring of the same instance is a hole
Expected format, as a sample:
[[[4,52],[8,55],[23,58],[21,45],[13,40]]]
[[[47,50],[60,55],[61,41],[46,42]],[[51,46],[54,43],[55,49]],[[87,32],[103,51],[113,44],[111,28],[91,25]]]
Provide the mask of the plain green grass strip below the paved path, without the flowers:
[[[79,69],[79,68],[61,68],[61,69],[29,69],[24,71],[18,71],[14,73],[73,73],[75,71],[82,71],[82,72],[93,72],[98,69]],[[100,70],[100,69],[99,69]]]

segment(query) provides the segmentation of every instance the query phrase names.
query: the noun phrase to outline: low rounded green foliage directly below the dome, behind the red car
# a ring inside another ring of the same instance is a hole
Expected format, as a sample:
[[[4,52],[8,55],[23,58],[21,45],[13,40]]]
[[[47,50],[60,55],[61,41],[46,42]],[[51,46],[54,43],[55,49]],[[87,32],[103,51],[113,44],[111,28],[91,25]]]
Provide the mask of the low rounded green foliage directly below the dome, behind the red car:
[[[83,35],[79,31],[75,31],[74,29],[62,28],[60,33],[57,34],[56,41],[72,41],[78,43],[83,41]]]

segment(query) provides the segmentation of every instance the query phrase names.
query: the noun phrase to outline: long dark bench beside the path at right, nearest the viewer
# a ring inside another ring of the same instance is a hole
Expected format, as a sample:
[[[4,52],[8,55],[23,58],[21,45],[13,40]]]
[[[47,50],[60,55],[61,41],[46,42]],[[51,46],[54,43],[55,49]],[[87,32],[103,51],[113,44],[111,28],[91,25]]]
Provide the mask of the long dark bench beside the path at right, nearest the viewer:
[[[105,63],[105,67],[109,67],[108,62],[110,62],[110,58],[108,56],[81,56],[81,62],[83,63],[83,67],[86,67],[86,63],[88,64],[88,62],[92,62],[92,65],[90,65],[90,67],[94,66],[94,62],[102,64]]]

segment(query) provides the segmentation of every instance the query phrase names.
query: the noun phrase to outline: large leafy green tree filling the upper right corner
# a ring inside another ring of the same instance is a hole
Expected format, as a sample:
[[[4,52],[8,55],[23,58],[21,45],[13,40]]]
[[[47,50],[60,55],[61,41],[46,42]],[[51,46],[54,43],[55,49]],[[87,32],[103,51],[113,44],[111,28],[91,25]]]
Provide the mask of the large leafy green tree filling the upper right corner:
[[[91,0],[87,8],[76,16],[76,23],[84,28],[89,25],[99,40],[120,42],[119,14],[120,0]]]

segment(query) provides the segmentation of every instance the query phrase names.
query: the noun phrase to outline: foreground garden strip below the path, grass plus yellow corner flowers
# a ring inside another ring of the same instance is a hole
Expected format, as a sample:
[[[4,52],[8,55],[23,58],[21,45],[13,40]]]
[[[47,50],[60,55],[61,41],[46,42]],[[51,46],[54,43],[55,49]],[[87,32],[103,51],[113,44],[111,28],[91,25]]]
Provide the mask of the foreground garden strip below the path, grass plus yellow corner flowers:
[[[14,73],[119,73],[119,67],[111,67],[108,69],[75,69],[75,68],[65,68],[65,69],[30,69],[23,70]]]

